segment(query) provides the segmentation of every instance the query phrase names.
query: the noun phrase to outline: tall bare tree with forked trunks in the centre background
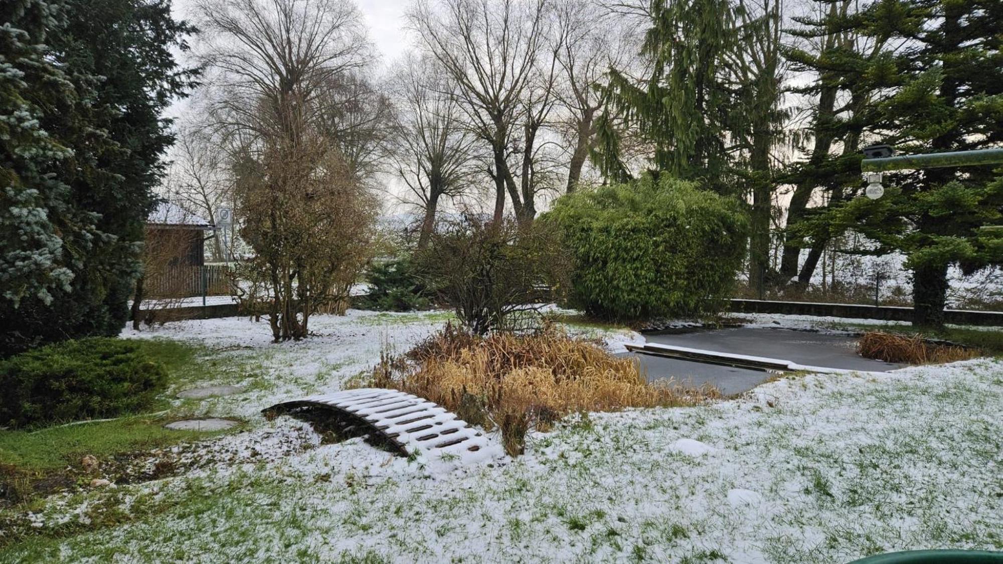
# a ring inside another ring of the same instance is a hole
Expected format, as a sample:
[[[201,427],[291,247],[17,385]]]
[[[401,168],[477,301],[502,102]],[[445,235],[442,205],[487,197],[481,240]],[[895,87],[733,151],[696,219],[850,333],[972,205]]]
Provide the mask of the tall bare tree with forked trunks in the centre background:
[[[553,73],[540,75],[549,64],[541,63],[546,15],[545,0],[419,0],[408,14],[421,44],[455,81],[472,130],[490,148],[495,222],[507,195],[521,223],[537,213],[534,144],[554,103],[543,91],[553,88]]]

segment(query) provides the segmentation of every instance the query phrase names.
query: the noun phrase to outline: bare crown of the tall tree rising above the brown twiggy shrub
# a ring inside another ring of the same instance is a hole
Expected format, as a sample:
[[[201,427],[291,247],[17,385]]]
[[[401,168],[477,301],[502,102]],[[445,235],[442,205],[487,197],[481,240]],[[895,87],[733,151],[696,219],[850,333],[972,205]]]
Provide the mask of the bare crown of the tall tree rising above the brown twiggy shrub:
[[[324,86],[370,58],[348,0],[199,0],[197,11],[222,128],[295,139],[327,109]]]

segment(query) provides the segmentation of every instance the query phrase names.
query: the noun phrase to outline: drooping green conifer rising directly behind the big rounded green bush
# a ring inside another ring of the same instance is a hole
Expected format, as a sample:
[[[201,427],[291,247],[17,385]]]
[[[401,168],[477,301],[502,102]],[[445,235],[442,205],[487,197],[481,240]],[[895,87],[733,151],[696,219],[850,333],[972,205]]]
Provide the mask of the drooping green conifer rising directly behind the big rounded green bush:
[[[652,146],[654,171],[721,187],[732,96],[724,74],[734,46],[733,9],[728,0],[654,0],[650,16],[641,54],[651,61],[651,74],[639,83],[610,71],[594,160],[607,177],[630,177],[612,126],[611,116],[617,115]]]

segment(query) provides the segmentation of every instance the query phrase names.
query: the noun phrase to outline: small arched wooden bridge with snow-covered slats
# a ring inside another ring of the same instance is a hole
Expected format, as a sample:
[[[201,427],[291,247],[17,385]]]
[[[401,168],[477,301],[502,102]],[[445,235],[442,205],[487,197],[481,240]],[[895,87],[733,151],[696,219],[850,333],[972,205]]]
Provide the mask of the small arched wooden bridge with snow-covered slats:
[[[264,409],[266,414],[301,409],[330,411],[342,431],[376,435],[398,454],[452,455],[470,458],[488,446],[487,438],[434,403],[396,389],[365,387],[283,401]]]

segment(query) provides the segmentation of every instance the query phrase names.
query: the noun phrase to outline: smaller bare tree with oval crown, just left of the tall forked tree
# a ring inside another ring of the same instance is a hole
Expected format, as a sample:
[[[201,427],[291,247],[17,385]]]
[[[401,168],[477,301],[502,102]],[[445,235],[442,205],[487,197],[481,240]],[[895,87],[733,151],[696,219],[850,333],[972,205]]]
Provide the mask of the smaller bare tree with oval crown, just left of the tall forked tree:
[[[397,176],[421,208],[418,249],[423,249],[439,201],[471,187],[476,137],[463,119],[455,82],[433,57],[405,56],[393,70],[389,89],[397,116],[388,146]]]

